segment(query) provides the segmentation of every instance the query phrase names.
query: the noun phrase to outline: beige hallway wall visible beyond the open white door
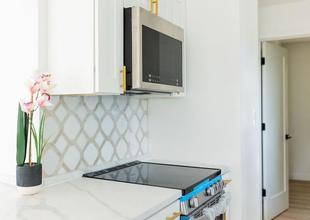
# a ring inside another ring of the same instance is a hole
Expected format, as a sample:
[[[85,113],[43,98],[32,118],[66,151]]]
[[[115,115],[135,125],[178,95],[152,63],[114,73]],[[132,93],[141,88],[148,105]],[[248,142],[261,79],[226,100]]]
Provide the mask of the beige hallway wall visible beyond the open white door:
[[[289,175],[310,180],[310,42],[282,45],[288,49]]]

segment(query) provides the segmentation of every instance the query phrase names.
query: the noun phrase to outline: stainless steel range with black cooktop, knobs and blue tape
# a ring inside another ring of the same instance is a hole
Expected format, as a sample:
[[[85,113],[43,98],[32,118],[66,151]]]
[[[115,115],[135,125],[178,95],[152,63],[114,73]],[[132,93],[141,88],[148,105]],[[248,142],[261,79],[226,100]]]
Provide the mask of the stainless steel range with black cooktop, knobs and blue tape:
[[[83,176],[182,190],[181,220],[220,220],[230,202],[230,194],[224,190],[227,181],[222,179],[220,169],[136,160]]]

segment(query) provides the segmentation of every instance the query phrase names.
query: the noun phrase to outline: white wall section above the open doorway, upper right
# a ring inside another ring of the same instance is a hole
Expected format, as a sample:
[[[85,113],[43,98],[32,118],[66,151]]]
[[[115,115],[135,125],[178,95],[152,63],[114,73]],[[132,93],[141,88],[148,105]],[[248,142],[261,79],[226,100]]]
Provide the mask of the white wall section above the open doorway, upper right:
[[[310,0],[259,8],[259,38],[310,36]]]

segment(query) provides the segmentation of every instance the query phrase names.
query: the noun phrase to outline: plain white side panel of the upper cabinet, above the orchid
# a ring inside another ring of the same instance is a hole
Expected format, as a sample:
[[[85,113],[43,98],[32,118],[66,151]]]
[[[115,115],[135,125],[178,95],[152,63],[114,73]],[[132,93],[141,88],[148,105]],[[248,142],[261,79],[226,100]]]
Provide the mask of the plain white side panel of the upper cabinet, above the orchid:
[[[93,93],[93,1],[47,0],[46,32],[51,94]]]

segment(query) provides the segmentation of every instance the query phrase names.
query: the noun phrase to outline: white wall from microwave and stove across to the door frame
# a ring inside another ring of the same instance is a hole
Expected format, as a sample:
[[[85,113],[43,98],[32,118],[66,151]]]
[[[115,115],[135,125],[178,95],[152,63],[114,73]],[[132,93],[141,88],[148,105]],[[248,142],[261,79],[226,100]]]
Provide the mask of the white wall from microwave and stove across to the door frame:
[[[255,0],[186,1],[187,97],[149,100],[156,158],[231,166],[232,220],[261,218],[257,28]]]

